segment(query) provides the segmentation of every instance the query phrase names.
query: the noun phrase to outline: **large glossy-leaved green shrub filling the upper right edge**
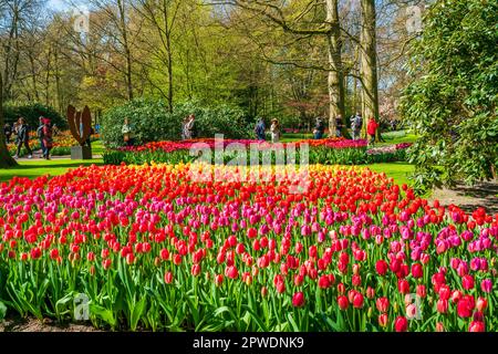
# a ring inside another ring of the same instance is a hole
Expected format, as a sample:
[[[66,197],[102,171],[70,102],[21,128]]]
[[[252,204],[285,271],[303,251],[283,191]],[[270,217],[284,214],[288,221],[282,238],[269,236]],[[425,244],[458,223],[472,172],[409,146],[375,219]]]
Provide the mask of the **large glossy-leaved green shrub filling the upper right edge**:
[[[491,178],[498,167],[498,3],[436,2],[413,52],[416,80],[402,100],[419,136],[412,147],[419,188]]]

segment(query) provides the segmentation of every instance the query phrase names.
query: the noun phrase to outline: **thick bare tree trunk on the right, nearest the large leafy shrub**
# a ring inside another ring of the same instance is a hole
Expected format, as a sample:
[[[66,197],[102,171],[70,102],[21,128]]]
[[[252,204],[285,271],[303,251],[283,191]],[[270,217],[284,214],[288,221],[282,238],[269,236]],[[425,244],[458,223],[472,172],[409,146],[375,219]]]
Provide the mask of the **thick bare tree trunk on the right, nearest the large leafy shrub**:
[[[362,75],[362,111],[363,127],[371,117],[378,122],[378,88],[377,88],[377,52],[375,0],[361,0],[362,32],[361,32],[361,75]],[[365,129],[364,129],[365,131]],[[377,129],[377,139],[378,139]]]

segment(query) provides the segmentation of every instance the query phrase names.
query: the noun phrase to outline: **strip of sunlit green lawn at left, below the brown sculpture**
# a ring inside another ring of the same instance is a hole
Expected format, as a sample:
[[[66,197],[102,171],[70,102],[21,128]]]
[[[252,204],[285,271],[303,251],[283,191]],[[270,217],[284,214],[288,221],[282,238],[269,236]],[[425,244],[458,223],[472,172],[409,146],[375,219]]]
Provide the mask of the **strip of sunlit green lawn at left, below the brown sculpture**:
[[[96,154],[96,153],[95,153]],[[14,176],[35,178],[43,175],[58,176],[63,175],[69,168],[76,168],[81,165],[90,166],[92,164],[102,165],[102,159],[90,160],[33,160],[21,162],[15,168],[0,169],[0,181],[7,181]]]

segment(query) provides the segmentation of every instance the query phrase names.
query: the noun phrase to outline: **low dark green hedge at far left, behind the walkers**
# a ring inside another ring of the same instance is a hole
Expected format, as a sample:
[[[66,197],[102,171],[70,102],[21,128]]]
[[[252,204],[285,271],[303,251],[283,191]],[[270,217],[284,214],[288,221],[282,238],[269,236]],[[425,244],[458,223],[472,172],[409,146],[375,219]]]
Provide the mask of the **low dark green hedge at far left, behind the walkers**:
[[[22,116],[32,129],[40,125],[40,116],[51,118],[60,129],[69,128],[65,117],[61,116],[53,107],[41,103],[8,102],[3,105],[3,116],[6,123],[9,124],[17,122]]]

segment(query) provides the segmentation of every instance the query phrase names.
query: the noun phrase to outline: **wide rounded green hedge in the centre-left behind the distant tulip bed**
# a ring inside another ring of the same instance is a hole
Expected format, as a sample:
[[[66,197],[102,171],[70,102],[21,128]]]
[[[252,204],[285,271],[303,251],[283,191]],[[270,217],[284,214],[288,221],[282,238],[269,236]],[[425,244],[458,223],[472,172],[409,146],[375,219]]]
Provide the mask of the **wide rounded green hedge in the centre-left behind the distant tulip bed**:
[[[102,139],[107,147],[123,146],[121,129],[124,118],[128,117],[136,144],[178,140],[181,138],[181,121],[189,114],[196,115],[199,137],[214,137],[215,134],[224,134],[226,138],[250,136],[240,108],[228,105],[203,107],[196,102],[187,102],[175,105],[174,112],[169,113],[165,102],[141,97],[104,114],[101,124]]]

